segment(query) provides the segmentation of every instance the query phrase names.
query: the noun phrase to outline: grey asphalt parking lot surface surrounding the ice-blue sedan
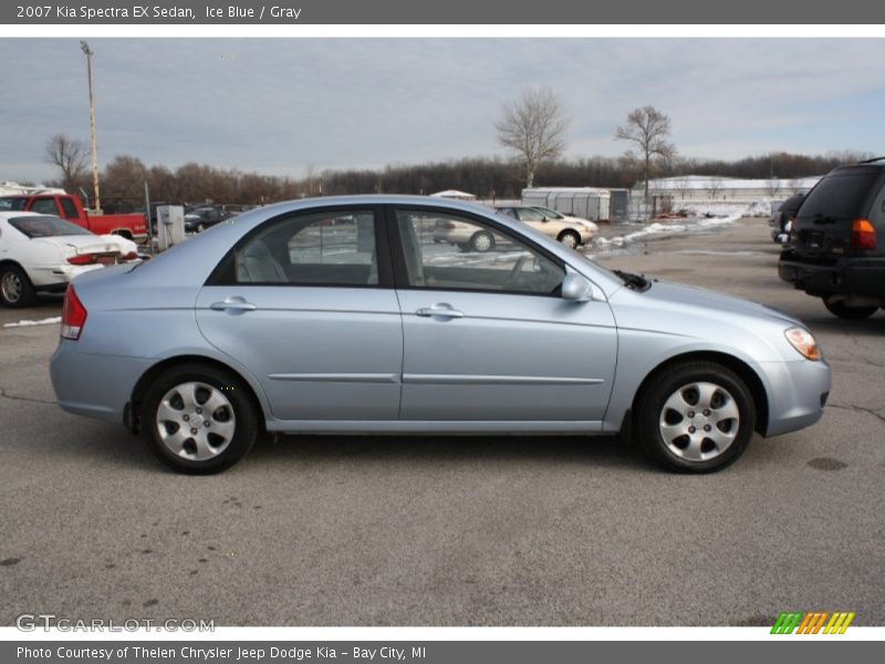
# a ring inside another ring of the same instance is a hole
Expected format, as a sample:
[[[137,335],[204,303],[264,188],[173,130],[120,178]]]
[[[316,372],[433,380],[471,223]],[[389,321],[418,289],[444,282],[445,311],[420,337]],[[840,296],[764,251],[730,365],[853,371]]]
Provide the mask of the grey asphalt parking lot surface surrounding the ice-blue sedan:
[[[798,315],[832,364],[818,425],[699,477],[614,438],[445,436],[292,437],[175,475],[54,404],[58,325],[0,326],[0,624],[883,625],[885,314],[832,317],[777,258],[759,219],[600,257]]]

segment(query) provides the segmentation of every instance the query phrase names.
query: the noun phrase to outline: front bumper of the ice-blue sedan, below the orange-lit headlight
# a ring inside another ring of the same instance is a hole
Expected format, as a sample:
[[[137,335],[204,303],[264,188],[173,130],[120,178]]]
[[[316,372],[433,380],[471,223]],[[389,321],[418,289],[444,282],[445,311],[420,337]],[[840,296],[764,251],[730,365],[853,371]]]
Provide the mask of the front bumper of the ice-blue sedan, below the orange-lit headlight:
[[[769,383],[766,436],[811,426],[823,416],[833,384],[826,362],[764,362],[762,366]]]

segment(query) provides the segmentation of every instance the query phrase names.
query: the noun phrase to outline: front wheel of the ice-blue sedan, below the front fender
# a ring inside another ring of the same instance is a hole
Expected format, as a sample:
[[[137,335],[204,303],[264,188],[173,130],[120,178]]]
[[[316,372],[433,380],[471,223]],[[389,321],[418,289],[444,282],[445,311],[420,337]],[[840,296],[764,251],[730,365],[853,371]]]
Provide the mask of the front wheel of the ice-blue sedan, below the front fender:
[[[693,390],[699,397],[697,412],[691,403]],[[700,392],[707,391],[712,396],[712,409],[702,407],[706,404]],[[673,403],[668,400],[677,398],[677,395],[681,398],[678,403],[688,407],[693,418],[666,406]],[[736,417],[727,417],[735,411]],[[665,439],[662,430],[665,426],[673,432],[667,436],[669,440]],[[679,427],[686,427],[691,434],[677,436]],[[756,404],[747,384],[731,370],[700,361],[669,366],[654,376],[639,395],[634,421],[635,438],[646,454],[658,465],[677,473],[721,470],[743,454],[754,427]],[[705,436],[705,430],[709,430],[712,437]],[[722,444],[721,449],[714,439],[728,437],[730,443]],[[691,445],[693,438],[698,440],[696,445]]]

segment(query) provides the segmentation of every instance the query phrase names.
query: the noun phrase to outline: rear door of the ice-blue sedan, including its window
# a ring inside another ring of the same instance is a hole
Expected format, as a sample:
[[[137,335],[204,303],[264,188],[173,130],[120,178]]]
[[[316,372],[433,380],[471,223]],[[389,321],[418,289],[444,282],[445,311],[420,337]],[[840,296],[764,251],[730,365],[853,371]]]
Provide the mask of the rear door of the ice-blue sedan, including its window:
[[[403,328],[372,207],[310,210],[249,234],[197,299],[217,349],[279,419],[396,419]]]

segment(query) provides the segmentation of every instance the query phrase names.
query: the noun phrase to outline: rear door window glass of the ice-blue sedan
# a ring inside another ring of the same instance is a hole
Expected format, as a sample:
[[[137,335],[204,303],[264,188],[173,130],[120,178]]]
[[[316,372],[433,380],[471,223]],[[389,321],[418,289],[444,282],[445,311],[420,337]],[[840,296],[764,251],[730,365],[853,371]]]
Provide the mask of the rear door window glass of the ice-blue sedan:
[[[375,215],[347,210],[283,219],[243,245],[236,263],[239,283],[377,284]]]

